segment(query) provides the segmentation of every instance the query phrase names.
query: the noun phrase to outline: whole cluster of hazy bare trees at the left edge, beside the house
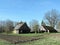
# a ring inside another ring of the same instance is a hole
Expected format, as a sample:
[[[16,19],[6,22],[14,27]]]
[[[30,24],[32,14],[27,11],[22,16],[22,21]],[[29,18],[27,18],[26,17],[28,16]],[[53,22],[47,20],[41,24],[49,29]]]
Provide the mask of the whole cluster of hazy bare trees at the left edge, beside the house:
[[[0,21],[0,32],[11,33],[17,22],[11,20]]]

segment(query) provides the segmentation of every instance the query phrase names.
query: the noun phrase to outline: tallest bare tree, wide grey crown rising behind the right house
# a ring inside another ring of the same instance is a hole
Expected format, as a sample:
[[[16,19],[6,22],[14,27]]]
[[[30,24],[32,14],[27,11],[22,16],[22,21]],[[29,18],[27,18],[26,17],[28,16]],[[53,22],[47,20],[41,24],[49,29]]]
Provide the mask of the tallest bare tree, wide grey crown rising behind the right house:
[[[52,9],[45,14],[45,19],[50,26],[55,27],[59,20],[59,13],[55,9]]]

